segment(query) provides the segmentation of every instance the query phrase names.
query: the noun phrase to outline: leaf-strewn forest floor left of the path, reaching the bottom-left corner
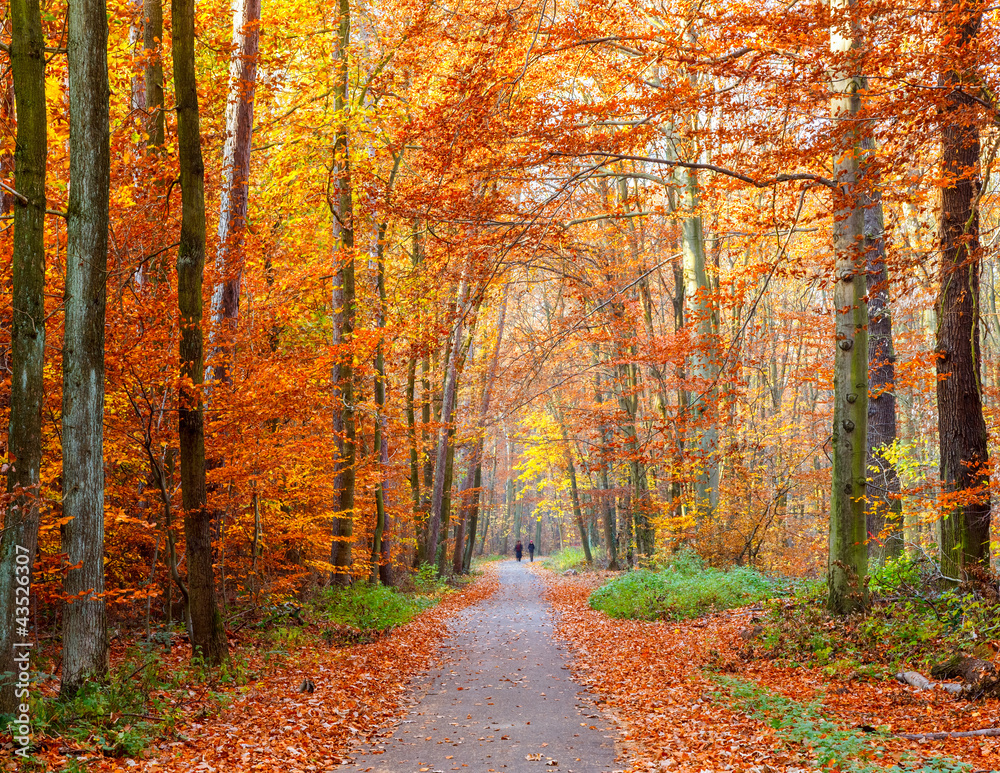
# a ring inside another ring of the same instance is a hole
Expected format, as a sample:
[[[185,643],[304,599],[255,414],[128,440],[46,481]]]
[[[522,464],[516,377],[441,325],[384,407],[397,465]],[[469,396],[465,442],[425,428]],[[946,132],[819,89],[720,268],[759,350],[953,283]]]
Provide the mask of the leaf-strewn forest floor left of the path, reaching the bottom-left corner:
[[[410,681],[434,663],[449,621],[496,588],[496,570],[487,565],[475,582],[369,643],[327,646],[318,631],[309,630],[312,626],[280,646],[253,646],[260,642],[240,636],[231,641],[235,665],[229,683],[193,682],[180,699],[176,691],[165,692],[162,702],[174,707],[175,721],[138,755],[104,756],[88,749],[98,739],[78,744],[42,734],[33,739],[35,762],[19,765],[13,756],[4,761],[0,738],[0,770],[332,770],[347,762],[348,750],[358,741],[373,739],[399,717]],[[275,650],[280,650],[277,655]],[[161,656],[164,668],[189,672],[190,654],[186,645],[175,645]],[[113,656],[113,668],[121,658],[120,651]],[[312,692],[301,691],[307,679],[315,686]],[[143,718],[135,719],[138,724]]]

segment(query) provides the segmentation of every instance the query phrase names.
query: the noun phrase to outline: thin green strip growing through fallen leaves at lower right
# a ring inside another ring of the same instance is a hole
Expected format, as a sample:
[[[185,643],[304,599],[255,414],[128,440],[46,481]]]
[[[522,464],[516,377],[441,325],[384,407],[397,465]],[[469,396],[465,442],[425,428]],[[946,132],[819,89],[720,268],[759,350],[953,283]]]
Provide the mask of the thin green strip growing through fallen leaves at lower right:
[[[813,757],[814,765],[823,770],[844,773],[964,773],[972,766],[947,757],[925,761],[907,755],[902,766],[885,768],[879,764],[886,757],[876,735],[842,730],[827,719],[818,702],[798,703],[742,679],[708,674],[723,691],[715,693],[720,703],[735,704],[741,711],[772,727],[789,743],[802,744]]]

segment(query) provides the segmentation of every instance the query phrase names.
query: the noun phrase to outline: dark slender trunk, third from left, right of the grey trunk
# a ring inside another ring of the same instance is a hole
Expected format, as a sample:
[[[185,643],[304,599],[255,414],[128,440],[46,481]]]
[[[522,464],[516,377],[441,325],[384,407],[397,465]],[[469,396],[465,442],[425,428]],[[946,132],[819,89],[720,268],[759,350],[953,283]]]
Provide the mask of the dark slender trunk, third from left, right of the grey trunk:
[[[205,413],[202,282],[205,273],[205,165],[201,155],[194,61],[194,0],[171,0],[177,150],[181,173],[181,238],[177,250],[181,383],[179,431],[181,500],[187,541],[188,606],[192,648],[210,666],[229,657],[226,631],[215,604],[212,514],[205,489]]]

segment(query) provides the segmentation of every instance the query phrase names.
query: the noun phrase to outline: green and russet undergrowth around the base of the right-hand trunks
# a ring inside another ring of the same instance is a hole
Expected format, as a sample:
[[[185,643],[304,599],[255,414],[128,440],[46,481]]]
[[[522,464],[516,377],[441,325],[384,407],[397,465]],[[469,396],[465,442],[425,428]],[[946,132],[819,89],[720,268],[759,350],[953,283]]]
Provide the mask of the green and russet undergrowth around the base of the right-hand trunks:
[[[941,588],[933,565],[901,558],[873,570],[865,614],[834,618],[826,586],[806,586],[791,601],[770,605],[751,649],[788,665],[822,668],[828,676],[883,679],[904,669],[926,672],[955,652],[993,654],[1000,603],[988,576]],[[995,578],[992,580],[995,583]]]

